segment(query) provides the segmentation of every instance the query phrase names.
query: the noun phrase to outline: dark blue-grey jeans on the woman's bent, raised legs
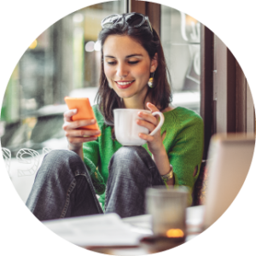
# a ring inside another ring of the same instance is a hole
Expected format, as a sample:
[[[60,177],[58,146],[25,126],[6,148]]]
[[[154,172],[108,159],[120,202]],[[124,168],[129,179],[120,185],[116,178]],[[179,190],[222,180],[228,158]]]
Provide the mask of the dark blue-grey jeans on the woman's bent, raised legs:
[[[116,212],[121,218],[145,214],[146,188],[165,185],[143,147],[119,148],[108,171],[105,213]],[[26,208],[38,221],[103,213],[87,166],[69,150],[52,150],[44,156]]]

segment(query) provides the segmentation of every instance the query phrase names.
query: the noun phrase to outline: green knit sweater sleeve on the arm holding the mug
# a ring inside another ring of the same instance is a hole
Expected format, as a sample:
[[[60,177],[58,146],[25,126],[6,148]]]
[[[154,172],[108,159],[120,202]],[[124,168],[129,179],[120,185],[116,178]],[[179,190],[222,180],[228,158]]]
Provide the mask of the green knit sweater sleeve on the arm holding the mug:
[[[177,117],[175,143],[168,152],[173,166],[175,185],[186,186],[189,190],[189,206],[192,204],[192,191],[198,177],[203,154],[203,120],[197,114]],[[197,173],[193,177],[195,167]]]

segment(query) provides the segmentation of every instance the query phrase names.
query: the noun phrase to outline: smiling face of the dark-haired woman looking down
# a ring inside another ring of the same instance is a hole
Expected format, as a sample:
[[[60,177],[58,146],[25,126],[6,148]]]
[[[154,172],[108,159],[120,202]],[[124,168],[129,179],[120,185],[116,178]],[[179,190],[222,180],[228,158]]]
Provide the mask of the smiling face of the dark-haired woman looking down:
[[[106,39],[103,57],[108,84],[123,98],[126,108],[142,105],[150,73],[154,73],[157,61],[151,61],[146,49],[129,36],[117,35]]]

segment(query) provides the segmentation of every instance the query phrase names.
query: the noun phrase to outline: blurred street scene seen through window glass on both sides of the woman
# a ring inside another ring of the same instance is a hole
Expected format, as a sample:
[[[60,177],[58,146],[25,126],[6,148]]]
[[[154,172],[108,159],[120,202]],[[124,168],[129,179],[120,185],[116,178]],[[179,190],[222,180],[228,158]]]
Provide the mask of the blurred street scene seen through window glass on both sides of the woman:
[[[172,104],[200,114],[201,22],[171,6],[160,8],[160,39],[172,78]],[[36,165],[29,158],[40,159],[39,154],[42,160],[48,150],[67,149],[61,128],[67,109],[63,98],[87,96],[94,105],[101,20],[126,9],[126,0],[90,4],[47,26],[26,47],[11,72],[0,107],[0,147],[5,148],[2,155],[10,178],[17,170],[20,177],[34,173],[26,173]],[[39,165],[40,160],[36,162]]]

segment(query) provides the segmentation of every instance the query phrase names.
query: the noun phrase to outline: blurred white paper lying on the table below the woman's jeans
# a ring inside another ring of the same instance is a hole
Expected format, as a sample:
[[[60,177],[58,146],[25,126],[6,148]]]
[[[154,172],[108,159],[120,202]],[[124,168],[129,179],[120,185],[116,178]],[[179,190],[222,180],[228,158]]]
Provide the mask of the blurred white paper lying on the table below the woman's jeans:
[[[147,234],[134,232],[116,213],[41,222],[47,230],[76,246],[135,246]]]

